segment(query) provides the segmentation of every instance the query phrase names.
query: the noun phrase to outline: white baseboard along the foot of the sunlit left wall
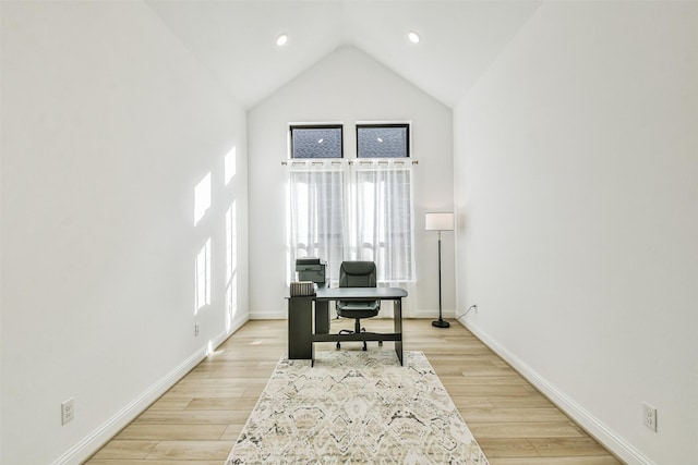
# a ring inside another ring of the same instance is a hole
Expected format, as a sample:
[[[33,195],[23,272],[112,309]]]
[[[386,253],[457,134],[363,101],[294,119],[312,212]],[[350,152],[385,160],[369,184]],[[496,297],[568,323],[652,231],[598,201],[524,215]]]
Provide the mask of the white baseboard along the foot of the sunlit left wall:
[[[222,331],[216,335],[210,345],[217,347],[233,332],[240,329],[248,320],[241,320],[230,329],[229,332]],[[160,378],[155,384],[145,390],[141,395],[131,401],[127,406],[117,412],[111,418],[100,425],[93,432],[83,438],[80,442],[69,449],[63,455],[58,457],[51,465],[77,465],[97,452],[107,441],[117,435],[127,425],[133,421],[141,413],[143,413],[153,402],[167,392],[198,363],[206,358],[208,344],[198,348],[179,366],[174,367],[170,372]]]

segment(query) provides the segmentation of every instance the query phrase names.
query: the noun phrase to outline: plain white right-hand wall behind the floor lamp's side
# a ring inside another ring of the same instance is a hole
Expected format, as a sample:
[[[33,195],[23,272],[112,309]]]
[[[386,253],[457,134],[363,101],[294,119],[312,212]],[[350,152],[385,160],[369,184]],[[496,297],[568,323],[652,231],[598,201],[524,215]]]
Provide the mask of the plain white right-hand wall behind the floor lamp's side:
[[[696,2],[546,2],[454,110],[465,321],[629,463],[698,456],[696,44]]]

